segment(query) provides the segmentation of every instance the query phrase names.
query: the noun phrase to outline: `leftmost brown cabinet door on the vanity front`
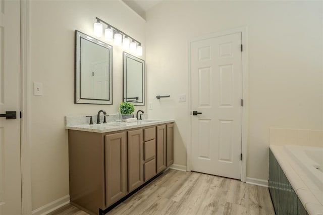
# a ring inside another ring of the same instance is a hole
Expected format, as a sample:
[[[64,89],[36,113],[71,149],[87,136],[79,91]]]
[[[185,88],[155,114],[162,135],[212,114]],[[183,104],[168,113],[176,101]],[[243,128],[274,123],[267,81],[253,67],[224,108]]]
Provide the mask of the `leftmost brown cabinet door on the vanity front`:
[[[105,195],[110,206],[127,194],[125,132],[105,135]]]

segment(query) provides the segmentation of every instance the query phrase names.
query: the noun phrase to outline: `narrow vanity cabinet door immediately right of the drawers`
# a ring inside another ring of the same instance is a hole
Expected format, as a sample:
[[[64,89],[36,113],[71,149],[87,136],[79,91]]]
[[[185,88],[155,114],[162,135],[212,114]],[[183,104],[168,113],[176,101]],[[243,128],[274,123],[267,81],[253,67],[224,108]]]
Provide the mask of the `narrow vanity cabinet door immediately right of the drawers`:
[[[157,126],[156,141],[157,173],[166,169],[166,126]]]

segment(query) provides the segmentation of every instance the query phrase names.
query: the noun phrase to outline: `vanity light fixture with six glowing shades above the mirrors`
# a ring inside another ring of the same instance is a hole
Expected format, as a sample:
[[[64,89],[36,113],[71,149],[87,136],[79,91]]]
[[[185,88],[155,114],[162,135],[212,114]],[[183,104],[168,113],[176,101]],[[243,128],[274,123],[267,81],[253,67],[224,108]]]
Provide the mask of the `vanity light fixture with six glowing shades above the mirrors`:
[[[142,46],[138,40],[135,40],[133,37],[124,33],[123,31],[115,28],[114,26],[106,23],[105,21],[95,17],[96,22],[94,23],[94,35],[101,37],[103,33],[103,24],[107,27],[104,30],[104,38],[107,42],[114,41],[115,45],[121,45],[125,50],[128,50],[132,53],[135,53],[137,56],[142,56]],[[131,42],[130,42],[131,41]],[[138,45],[137,45],[138,44]]]

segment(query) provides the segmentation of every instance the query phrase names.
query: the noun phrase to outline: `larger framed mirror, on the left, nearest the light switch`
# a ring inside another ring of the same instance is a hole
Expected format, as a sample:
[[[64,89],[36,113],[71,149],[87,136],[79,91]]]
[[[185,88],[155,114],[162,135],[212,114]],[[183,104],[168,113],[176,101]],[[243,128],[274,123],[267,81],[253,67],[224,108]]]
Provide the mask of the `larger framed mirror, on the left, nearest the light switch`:
[[[77,30],[75,103],[112,104],[112,46]]]

